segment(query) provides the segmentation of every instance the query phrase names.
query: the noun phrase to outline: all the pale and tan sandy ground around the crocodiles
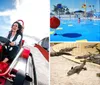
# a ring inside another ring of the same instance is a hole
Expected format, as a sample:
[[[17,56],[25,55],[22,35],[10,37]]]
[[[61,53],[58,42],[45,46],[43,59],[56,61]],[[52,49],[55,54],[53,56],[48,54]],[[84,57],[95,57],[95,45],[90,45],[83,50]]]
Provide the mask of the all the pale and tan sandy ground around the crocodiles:
[[[90,44],[94,43],[61,43],[53,46],[52,49],[59,51],[61,48],[77,46],[76,49],[70,52],[74,55],[72,57],[75,57],[87,54],[88,52],[96,53],[95,48],[84,48],[84,46]],[[100,85],[100,78],[96,76],[96,73],[100,73],[100,66],[86,63],[87,71],[82,70],[80,74],[67,76],[70,68],[79,64],[68,60],[65,56],[50,57],[50,85]]]

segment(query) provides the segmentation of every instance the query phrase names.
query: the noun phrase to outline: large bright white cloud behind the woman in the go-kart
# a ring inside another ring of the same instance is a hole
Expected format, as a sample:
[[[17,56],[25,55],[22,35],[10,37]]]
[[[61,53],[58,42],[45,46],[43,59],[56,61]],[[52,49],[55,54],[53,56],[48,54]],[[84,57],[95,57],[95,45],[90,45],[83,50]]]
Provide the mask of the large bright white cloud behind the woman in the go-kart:
[[[0,16],[10,16],[10,23],[22,19],[25,23],[24,34],[39,39],[49,36],[49,0],[16,0],[15,10],[0,12]]]

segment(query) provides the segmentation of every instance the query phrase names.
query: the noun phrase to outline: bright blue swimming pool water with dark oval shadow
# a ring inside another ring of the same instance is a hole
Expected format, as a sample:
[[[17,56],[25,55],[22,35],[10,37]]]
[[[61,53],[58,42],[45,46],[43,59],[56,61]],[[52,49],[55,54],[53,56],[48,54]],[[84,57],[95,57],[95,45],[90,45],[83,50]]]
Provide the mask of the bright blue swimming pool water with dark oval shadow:
[[[51,29],[55,31],[54,34],[50,34],[50,41],[100,41],[100,20],[82,20],[78,23],[78,19],[60,20],[60,26],[62,29]]]

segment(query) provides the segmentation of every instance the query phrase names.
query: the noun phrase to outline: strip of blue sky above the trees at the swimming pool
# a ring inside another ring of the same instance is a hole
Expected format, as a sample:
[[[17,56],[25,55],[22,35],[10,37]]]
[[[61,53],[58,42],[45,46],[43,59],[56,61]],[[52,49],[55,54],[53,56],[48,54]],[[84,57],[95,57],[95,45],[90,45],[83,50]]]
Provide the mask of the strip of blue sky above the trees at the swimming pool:
[[[85,0],[50,0],[50,8],[51,10],[53,9],[53,5],[57,5],[61,3],[62,5],[67,6],[70,10],[77,10],[77,9],[82,9],[82,4],[85,3]],[[94,5],[97,11],[100,11],[100,0],[86,0],[87,6]],[[90,8],[87,8],[87,11],[89,11]]]

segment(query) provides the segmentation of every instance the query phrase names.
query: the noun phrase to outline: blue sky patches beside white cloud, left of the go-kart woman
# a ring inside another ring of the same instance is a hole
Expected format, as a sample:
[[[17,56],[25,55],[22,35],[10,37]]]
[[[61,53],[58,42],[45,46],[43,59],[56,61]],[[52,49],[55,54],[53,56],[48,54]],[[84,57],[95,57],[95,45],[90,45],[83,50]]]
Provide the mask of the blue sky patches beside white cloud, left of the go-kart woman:
[[[0,0],[0,35],[2,36],[6,36],[11,29],[10,16],[5,11],[15,9],[14,3],[15,0]],[[3,12],[5,12],[4,15]]]

